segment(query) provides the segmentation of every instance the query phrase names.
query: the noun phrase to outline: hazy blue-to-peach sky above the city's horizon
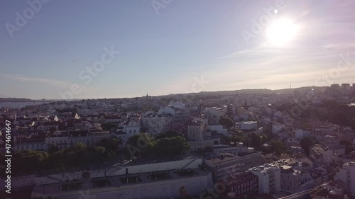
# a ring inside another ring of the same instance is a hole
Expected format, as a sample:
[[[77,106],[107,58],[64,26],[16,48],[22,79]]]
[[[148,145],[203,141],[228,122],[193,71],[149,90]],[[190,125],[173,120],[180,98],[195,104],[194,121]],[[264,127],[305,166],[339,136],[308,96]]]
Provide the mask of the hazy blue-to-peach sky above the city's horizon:
[[[353,84],[354,9],[352,0],[4,0],[0,97]]]

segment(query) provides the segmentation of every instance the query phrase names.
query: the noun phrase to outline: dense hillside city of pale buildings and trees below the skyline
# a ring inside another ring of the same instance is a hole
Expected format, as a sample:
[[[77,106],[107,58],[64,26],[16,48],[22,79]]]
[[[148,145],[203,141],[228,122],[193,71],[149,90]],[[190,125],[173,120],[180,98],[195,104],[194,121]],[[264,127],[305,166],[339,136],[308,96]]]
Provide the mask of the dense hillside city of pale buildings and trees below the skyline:
[[[291,90],[2,107],[11,195],[352,198],[355,84]]]

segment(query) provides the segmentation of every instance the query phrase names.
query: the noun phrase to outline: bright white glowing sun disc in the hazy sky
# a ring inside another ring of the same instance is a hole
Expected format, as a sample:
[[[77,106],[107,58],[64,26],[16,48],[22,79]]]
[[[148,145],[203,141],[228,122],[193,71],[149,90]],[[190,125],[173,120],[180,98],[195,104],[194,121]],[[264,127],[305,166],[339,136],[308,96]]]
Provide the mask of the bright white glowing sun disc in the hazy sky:
[[[288,18],[278,19],[267,29],[268,41],[271,45],[286,45],[295,39],[298,26]]]

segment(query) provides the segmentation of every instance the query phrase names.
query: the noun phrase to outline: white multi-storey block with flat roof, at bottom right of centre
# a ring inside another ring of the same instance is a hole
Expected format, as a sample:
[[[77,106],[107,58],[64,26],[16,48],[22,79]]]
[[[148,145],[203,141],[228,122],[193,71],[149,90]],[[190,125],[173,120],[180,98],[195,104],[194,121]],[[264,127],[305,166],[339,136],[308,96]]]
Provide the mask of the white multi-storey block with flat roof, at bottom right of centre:
[[[249,169],[258,176],[259,193],[276,193],[281,190],[281,169],[273,164],[263,164]]]

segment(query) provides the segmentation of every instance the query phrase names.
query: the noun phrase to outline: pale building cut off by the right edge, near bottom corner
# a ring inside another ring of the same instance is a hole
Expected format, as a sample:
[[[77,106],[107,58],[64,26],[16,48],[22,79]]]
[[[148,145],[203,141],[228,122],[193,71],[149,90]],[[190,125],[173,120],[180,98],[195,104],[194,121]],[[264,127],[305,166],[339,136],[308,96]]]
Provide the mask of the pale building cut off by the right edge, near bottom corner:
[[[352,196],[355,196],[355,162],[349,161],[343,164],[337,174],[334,176],[334,181],[340,180],[345,184],[345,190]]]

